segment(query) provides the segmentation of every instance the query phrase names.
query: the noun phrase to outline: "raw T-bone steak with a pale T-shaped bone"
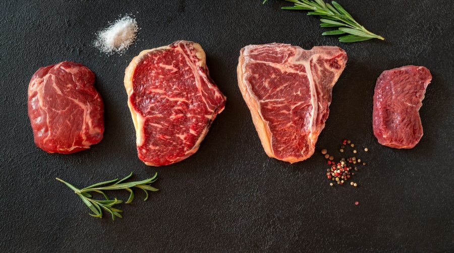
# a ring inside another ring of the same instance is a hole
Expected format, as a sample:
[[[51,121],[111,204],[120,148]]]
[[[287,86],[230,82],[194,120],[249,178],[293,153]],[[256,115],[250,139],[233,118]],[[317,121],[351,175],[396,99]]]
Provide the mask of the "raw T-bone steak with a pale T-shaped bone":
[[[329,114],[331,90],[347,54],[335,46],[304,50],[289,44],[241,49],[238,85],[269,157],[309,158]]]

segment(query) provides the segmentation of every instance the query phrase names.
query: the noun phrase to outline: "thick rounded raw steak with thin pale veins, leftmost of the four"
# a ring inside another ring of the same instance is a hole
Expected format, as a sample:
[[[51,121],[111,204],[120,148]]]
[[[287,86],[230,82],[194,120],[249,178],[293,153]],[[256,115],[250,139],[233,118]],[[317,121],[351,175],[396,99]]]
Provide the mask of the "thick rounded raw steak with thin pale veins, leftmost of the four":
[[[28,86],[28,116],[35,144],[48,153],[70,154],[102,140],[104,105],[95,75],[71,61],[40,68]]]

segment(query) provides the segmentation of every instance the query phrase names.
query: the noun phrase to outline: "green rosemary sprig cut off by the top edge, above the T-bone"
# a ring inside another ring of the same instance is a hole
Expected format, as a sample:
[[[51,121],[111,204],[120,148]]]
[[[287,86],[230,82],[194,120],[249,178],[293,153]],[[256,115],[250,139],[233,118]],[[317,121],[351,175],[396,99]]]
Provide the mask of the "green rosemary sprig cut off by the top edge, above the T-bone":
[[[262,4],[265,4],[264,0]],[[383,37],[368,31],[364,26],[360,25],[341,5],[334,1],[331,4],[325,3],[322,0],[285,0],[291,2],[294,6],[282,7],[284,10],[307,10],[310,11],[307,15],[320,16],[321,27],[338,27],[337,30],[332,30],[322,33],[322,35],[341,35],[341,42],[357,42],[369,39],[381,39]]]

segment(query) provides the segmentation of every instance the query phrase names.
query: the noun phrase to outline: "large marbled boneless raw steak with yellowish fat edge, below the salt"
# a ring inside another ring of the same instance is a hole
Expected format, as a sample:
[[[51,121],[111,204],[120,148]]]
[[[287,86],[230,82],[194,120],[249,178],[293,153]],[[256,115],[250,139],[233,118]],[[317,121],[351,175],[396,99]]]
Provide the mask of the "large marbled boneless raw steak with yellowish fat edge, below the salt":
[[[194,154],[225,104],[205,52],[191,41],[142,51],[126,69],[125,87],[139,159],[152,166]]]

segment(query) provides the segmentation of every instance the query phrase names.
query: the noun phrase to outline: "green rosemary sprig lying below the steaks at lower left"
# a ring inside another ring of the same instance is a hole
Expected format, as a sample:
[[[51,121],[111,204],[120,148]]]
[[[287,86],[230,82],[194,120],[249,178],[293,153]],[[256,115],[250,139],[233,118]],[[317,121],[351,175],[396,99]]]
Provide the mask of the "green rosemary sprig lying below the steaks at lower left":
[[[109,197],[103,191],[125,189],[126,191],[128,191],[130,193],[128,200],[125,202],[126,204],[131,203],[134,199],[134,192],[131,189],[132,187],[140,188],[145,192],[144,201],[146,201],[148,199],[147,191],[151,191],[151,192],[158,191],[158,189],[149,185],[150,183],[157,180],[157,173],[155,173],[153,177],[145,179],[145,180],[135,181],[135,182],[123,182],[126,179],[130,178],[131,176],[132,176],[132,172],[123,179],[119,180],[117,178],[117,179],[113,179],[113,180],[109,180],[109,181],[95,183],[95,184],[85,187],[83,189],[79,189],[76,186],[74,186],[74,185],[70,184],[69,182],[66,182],[58,177],[55,179],[65,183],[68,187],[70,187],[74,191],[74,193],[76,193],[82,199],[82,201],[85,203],[85,205],[87,205],[87,207],[90,208],[90,210],[93,212],[93,214],[90,214],[91,216],[101,218],[102,210],[105,210],[112,215],[112,220],[115,220],[115,217],[123,218],[123,216],[120,214],[121,212],[123,212],[123,210],[114,208],[113,206],[123,203],[123,201],[117,200],[117,198],[110,200]],[[109,183],[112,183],[112,184],[107,185],[107,186],[101,186],[101,185],[105,185],[105,184],[109,184]],[[92,199],[93,196],[91,194],[89,194],[89,192],[95,192],[95,193],[102,194],[102,196],[104,196],[105,200],[94,200],[94,199]]]

